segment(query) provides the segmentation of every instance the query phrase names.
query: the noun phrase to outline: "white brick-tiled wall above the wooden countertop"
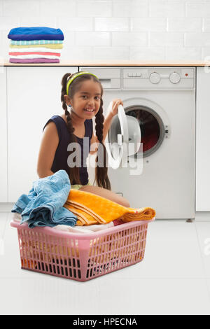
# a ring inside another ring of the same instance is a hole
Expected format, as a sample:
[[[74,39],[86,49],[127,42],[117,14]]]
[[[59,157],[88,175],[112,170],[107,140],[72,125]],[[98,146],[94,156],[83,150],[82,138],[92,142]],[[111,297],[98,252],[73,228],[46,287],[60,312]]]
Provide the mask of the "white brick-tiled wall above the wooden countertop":
[[[210,55],[210,0],[0,0],[0,56],[8,31],[64,32],[61,60],[200,60]]]

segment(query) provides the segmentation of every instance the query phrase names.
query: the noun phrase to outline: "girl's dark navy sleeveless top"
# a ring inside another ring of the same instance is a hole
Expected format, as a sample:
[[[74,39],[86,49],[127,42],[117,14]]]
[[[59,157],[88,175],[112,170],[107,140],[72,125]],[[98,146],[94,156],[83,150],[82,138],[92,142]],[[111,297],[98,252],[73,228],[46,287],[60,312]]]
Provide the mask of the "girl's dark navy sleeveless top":
[[[52,116],[52,118],[50,118],[50,120],[48,120],[48,122],[43,127],[43,130],[45,129],[46,125],[48,125],[48,123],[50,123],[51,121],[55,123],[59,137],[59,144],[55,152],[51,171],[55,173],[58,172],[58,170],[60,169],[64,169],[66,170],[66,173],[69,174],[69,170],[71,170],[67,163],[67,158],[69,156],[69,152],[67,151],[67,147],[69,145],[69,131],[67,129],[66,122],[61,116]],[[83,138],[76,137],[81,148],[81,167],[79,168],[79,173],[80,182],[82,185],[88,183],[88,173],[87,167],[85,167],[85,163],[87,156],[90,152],[90,139],[92,137],[92,119],[85,120],[85,137],[89,137],[89,143],[86,143],[85,147],[83,146]],[[73,184],[76,184],[76,182],[71,182],[71,185]]]

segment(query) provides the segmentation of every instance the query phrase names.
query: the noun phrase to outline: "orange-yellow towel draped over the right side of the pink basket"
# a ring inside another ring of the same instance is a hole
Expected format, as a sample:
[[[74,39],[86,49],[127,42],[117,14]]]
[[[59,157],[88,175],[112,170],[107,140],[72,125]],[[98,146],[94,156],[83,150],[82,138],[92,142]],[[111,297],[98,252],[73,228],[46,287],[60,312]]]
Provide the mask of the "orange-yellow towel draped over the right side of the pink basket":
[[[76,225],[106,224],[118,218],[124,222],[144,221],[155,217],[153,208],[128,208],[99,195],[71,190],[64,204],[78,217]]]

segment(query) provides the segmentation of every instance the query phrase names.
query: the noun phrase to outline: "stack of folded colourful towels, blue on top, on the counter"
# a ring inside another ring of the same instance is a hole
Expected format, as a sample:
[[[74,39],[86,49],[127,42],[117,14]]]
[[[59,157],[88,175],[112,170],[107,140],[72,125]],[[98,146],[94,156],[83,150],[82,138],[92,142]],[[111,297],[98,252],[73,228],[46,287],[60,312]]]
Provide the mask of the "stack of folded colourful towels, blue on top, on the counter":
[[[59,63],[64,34],[52,27],[10,29],[10,63]]]

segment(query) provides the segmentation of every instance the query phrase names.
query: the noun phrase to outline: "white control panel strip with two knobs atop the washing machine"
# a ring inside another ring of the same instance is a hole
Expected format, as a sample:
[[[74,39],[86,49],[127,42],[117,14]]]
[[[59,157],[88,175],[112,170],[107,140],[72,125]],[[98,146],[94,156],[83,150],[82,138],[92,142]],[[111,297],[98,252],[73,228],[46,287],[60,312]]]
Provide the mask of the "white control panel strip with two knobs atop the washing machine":
[[[80,67],[85,70],[99,76],[104,90],[195,89],[195,67],[190,66]]]

